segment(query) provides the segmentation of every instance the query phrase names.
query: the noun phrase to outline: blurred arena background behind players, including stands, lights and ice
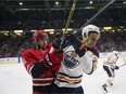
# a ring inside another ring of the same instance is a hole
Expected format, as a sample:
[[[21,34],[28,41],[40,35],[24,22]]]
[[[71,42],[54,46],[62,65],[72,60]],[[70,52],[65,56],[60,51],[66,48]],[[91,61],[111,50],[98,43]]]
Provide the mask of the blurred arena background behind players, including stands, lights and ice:
[[[32,36],[38,29],[49,35],[50,42],[62,36],[73,1],[0,0],[0,94],[32,94],[32,77],[20,56],[33,46]],[[100,12],[111,1],[114,3]],[[93,18],[98,12],[100,14]],[[126,58],[126,0],[77,0],[67,31],[81,39],[78,29],[90,18],[93,19],[89,24],[101,30],[94,46],[100,58],[97,71],[91,76],[84,75],[83,88],[86,94],[103,94],[100,86],[108,78],[102,69],[103,61],[112,51],[118,51],[118,66],[124,64],[122,57]],[[125,67],[116,71],[110,94],[126,93],[125,71]]]

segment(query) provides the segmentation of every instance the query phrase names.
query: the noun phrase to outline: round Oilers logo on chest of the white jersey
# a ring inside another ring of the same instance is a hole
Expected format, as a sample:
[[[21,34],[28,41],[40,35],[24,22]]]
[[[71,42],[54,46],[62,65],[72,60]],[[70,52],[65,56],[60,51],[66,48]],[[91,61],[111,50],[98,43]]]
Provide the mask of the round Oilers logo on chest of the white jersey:
[[[63,65],[67,68],[75,68],[79,64],[79,56],[74,51],[68,51],[63,55]]]

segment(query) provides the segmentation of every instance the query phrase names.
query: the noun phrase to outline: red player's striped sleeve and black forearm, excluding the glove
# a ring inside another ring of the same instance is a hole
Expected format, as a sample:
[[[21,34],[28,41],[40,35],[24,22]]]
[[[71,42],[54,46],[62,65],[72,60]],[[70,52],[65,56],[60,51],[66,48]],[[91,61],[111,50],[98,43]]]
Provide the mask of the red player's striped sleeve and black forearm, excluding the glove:
[[[38,78],[41,73],[46,72],[49,68],[43,65],[43,59],[36,63],[29,52],[22,54],[23,63],[29,75],[34,78]]]

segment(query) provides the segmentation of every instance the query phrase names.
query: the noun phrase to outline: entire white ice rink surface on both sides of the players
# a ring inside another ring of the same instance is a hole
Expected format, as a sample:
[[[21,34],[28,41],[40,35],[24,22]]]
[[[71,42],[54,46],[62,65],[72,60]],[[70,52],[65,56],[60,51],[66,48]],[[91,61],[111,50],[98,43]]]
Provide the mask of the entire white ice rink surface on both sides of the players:
[[[85,94],[104,94],[100,86],[106,81],[108,76],[99,58],[98,69],[88,76],[84,73],[81,85]],[[117,65],[124,64],[119,58]],[[23,64],[0,65],[0,94],[32,94],[32,78],[26,72]],[[109,88],[108,94],[126,94],[126,66],[115,71],[114,85]]]

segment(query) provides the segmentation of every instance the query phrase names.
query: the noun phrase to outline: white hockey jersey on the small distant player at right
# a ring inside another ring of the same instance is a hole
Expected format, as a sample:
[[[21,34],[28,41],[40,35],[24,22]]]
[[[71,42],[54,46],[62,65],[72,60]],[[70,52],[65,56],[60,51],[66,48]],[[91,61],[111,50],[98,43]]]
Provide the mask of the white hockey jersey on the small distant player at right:
[[[115,68],[117,59],[118,56],[113,54],[105,62],[103,62],[103,65]]]

